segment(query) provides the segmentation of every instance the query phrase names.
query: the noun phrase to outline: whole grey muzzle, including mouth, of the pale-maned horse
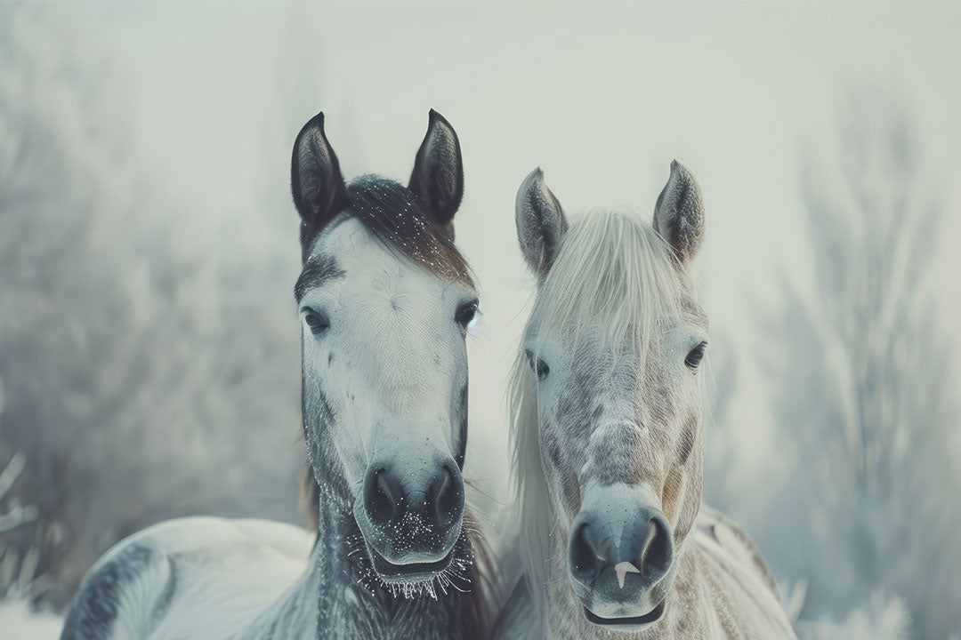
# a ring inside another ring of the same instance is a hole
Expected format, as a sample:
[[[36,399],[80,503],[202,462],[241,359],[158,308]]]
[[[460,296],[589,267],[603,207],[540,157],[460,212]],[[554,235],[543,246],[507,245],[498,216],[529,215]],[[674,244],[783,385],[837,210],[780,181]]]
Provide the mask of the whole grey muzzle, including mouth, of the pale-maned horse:
[[[657,622],[674,573],[674,537],[649,491],[591,486],[568,538],[568,573],[594,624],[637,630]]]

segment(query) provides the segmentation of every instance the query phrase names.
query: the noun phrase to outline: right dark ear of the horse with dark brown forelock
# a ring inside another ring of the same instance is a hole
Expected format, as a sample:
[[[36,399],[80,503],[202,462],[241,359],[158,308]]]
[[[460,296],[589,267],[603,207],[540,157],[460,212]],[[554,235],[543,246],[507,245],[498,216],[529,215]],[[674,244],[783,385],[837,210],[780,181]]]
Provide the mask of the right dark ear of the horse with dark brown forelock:
[[[438,225],[448,226],[464,197],[464,166],[451,123],[433,109],[430,117],[408,188],[427,204],[428,214]]]

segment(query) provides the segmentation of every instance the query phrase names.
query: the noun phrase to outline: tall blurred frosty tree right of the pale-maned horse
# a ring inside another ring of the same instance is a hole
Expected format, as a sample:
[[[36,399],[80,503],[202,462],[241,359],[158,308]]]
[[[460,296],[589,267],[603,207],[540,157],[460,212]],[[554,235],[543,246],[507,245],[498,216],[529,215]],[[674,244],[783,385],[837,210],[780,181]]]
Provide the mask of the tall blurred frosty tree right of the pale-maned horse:
[[[802,180],[813,294],[785,282],[767,334],[788,481],[753,533],[807,581],[802,618],[882,589],[940,640],[961,628],[958,387],[928,280],[942,210],[898,101],[852,93],[838,142]]]

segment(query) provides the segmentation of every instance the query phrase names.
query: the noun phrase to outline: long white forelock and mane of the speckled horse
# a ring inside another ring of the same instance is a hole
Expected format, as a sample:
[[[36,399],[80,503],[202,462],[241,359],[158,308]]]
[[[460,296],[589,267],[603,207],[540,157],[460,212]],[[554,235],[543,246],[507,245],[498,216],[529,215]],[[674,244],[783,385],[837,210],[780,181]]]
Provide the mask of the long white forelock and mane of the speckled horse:
[[[604,326],[607,337],[640,345],[643,370],[648,340],[659,322],[680,315],[684,286],[675,258],[653,226],[631,212],[581,212],[564,234],[541,282],[525,337],[532,327],[583,335]],[[535,344],[536,347],[536,344]],[[513,486],[520,512],[521,553],[538,612],[543,610],[551,506],[538,442],[537,387],[524,344],[508,391]]]

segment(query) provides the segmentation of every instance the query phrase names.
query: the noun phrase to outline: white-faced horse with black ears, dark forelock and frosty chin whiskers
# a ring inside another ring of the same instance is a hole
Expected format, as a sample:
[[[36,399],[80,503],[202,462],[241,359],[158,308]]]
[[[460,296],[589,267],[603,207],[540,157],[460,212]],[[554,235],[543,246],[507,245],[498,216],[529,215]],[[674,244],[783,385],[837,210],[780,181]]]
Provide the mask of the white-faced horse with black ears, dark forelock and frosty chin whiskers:
[[[292,159],[315,539],[267,521],[162,523],[90,569],[62,640],[486,637],[460,475],[478,298],[453,239],[456,133],[431,111],[407,187],[347,185],[323,125],[308,122]]]

